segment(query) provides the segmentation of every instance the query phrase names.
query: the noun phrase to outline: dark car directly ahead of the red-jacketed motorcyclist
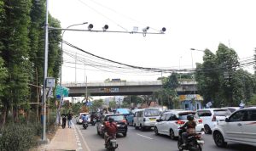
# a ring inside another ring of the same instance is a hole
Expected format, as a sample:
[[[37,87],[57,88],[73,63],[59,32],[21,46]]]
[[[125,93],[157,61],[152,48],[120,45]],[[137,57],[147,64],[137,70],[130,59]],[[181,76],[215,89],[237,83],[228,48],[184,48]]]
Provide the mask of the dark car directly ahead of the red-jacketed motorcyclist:
[[[96,130],[97,134],[104,137],[105,131],[103,130],[104,122],[108,121],[109,117],[113,118],[113,121],[116,122],[118,126],[117,133],[122,133],[124,137],[127,134],[127,121],[125,120],[125,116],[122,114],[106,114],[102,115],[102,117],[97,121]]]

